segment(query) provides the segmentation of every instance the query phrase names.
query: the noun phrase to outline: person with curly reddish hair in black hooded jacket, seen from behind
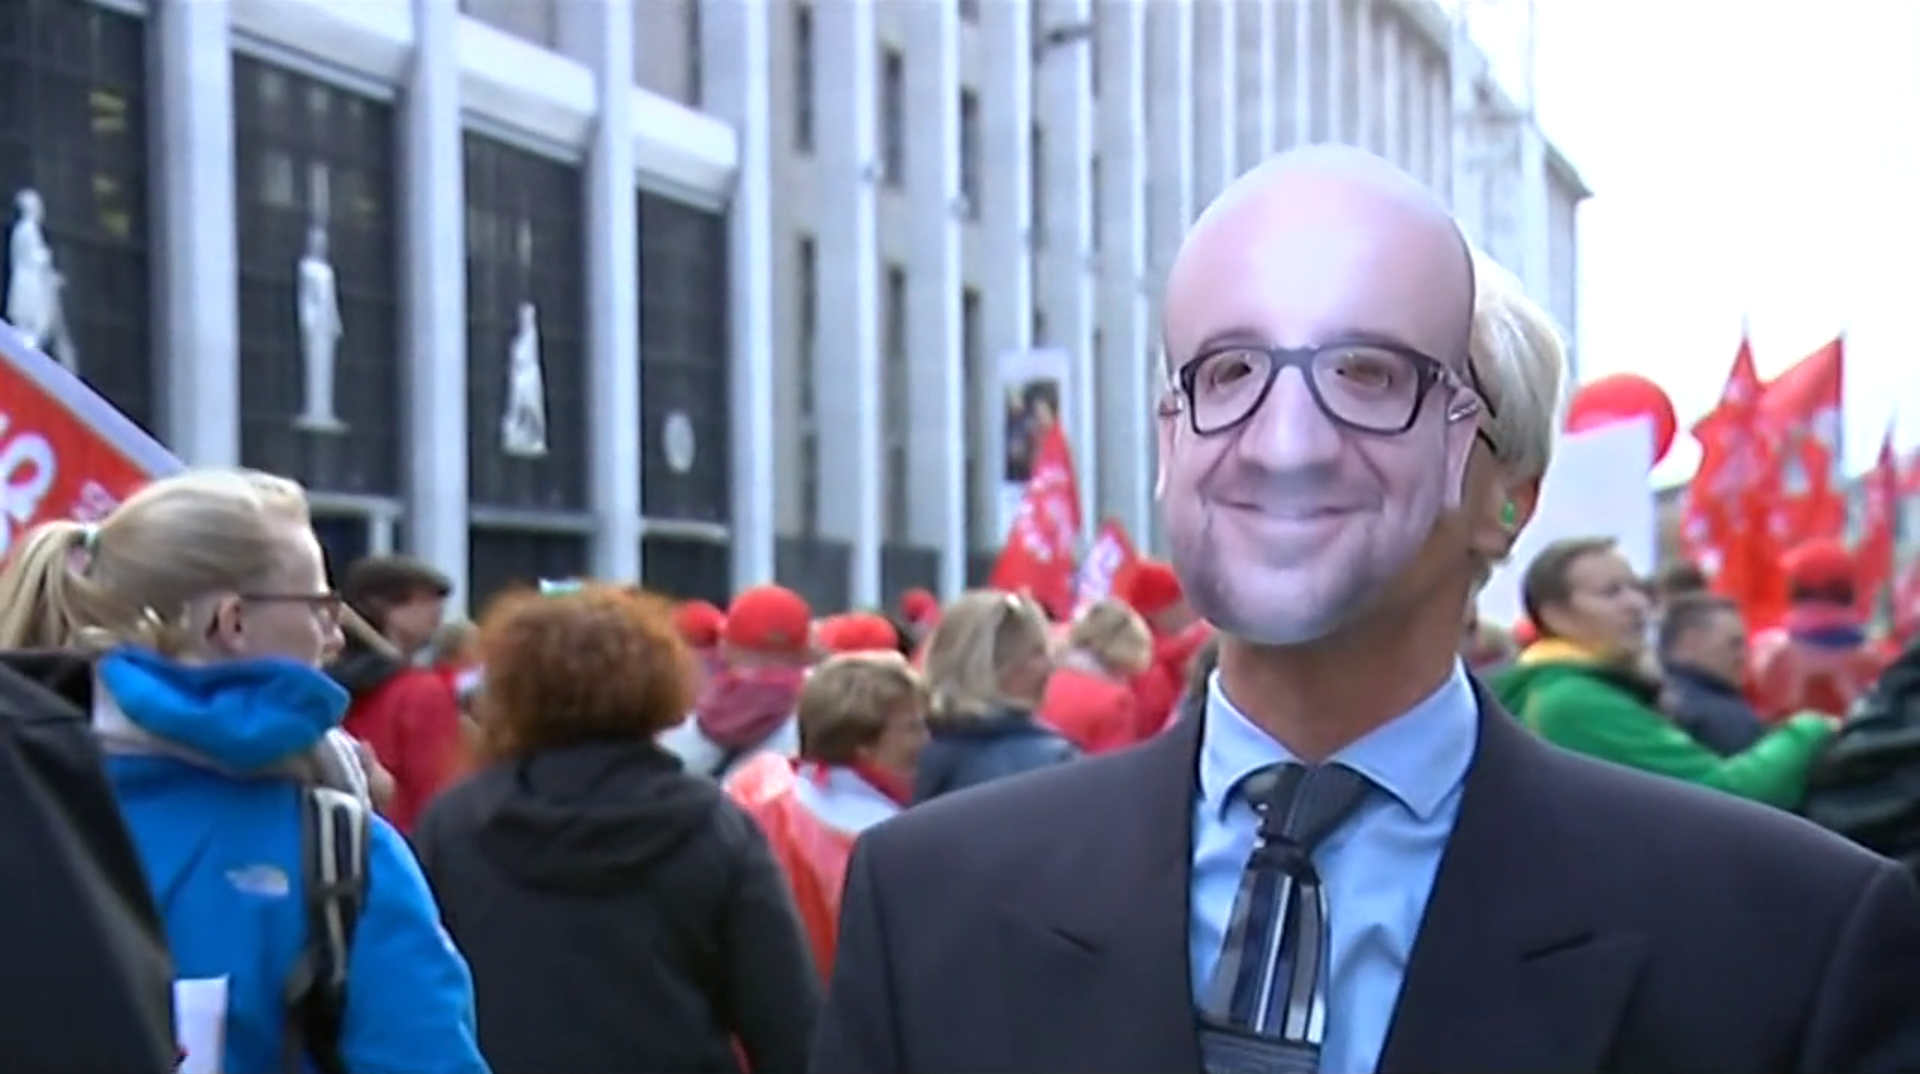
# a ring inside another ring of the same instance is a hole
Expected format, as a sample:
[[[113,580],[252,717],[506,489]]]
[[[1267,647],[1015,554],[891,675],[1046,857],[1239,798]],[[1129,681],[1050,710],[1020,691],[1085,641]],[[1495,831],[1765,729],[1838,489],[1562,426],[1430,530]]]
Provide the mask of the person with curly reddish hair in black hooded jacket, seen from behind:
[[[785,1074],[820,976],[772,849],[653,736],[691,703],[666,601],[520,596],[480,630],[488,763],[415,849],[495,1074]]]

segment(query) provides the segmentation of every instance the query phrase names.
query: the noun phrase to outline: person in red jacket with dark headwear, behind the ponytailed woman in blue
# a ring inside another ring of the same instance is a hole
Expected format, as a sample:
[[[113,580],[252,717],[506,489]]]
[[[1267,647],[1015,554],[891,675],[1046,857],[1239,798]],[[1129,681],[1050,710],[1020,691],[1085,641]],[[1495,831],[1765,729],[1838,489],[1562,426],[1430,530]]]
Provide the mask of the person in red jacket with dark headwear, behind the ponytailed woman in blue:
[[[403,834],[461,769],[461,709],[445,678],[415,665],[445,619],[453,580],[405,555],[372,555],[348,569],[342,596],[378,640],[348,636],[328,667],[353,696],[346,730],[394,776],[382,811]]]

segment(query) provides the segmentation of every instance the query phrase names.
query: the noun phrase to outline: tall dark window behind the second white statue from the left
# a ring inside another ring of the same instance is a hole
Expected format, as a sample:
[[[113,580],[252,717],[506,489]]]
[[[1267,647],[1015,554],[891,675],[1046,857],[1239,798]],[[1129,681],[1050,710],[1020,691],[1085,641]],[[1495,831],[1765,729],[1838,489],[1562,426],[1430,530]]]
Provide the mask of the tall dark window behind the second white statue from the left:
[[[399,494],[394,110],[234,58],[240,459]]]

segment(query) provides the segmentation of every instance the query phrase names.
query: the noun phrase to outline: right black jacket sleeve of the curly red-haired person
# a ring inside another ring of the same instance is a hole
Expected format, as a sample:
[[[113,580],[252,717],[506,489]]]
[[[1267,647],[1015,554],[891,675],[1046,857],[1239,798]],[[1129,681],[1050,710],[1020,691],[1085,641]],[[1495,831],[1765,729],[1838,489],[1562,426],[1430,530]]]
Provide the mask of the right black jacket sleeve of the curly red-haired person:
[[[820,970],[766,836],[732,803],[726,815],[739,830],[726,918],[728,1028],[755,1074],[801,1074],[820,1020]]]

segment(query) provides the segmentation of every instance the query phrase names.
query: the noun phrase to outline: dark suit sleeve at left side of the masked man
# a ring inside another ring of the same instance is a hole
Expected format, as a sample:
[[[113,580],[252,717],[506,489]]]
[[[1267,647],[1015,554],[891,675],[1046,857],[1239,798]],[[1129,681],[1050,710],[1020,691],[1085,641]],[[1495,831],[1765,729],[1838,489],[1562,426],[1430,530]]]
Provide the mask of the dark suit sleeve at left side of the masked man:
[[[814,1037],[812,1074],[900,1074],[893,970],[887,963],[887,926],[874,890],[870,840],[852,847],[847,890],[841,895],[839,943],[833,949],[833,984]]]

